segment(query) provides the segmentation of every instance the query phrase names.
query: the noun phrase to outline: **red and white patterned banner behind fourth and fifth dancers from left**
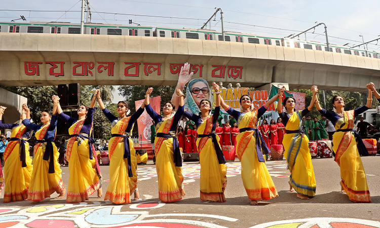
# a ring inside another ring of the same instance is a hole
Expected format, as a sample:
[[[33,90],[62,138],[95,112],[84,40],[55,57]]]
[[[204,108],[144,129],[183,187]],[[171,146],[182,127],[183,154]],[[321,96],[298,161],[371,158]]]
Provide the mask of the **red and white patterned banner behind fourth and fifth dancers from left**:
[[[150,106],[155,110],[157,113],[160,113],[160,103],[161,103],[161,96],[158,97],[152,97],[149,99]],[[136,110],[139,109],[144,103],[144,100],[136,100]],[[137,127],[138,127],[138,139],[140,140],[140,145],[143,148],[150,147],[150,126],[153,124],[153,119],[150,118],[146,110],[142,113],[142,115],[137,119]]]

